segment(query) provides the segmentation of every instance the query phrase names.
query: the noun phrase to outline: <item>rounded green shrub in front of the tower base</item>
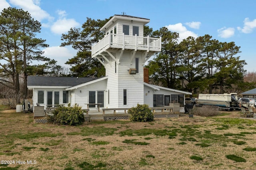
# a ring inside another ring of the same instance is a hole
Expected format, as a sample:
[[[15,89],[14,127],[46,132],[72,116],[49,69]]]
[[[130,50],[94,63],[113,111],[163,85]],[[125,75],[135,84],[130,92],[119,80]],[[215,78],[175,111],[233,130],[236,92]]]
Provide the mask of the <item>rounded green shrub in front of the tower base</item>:
[[[151,109],[148,107],[148,105],[143,104],[137,104],[136,107],[132,107],[131,109],[128,109],[128,113],[130,114],[130,120],[131,121],[153,121],[154,115],[151,111]]]

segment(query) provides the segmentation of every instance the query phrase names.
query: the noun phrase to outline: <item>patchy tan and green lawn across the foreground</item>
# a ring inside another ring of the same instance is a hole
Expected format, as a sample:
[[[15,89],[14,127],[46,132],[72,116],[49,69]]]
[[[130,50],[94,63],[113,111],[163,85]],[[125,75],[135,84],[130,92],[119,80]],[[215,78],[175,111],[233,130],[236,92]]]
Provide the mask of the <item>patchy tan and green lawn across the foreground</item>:
[[[255,169],[256,121],[228,113],[69,127],[34,123],[31,113],[4,109],[0,111],[0,158],[33,159],[37,164],[0,169]],[[226,157],[233,153],[246,162],[238,159],[234,163],[230,158],[236,157]]]

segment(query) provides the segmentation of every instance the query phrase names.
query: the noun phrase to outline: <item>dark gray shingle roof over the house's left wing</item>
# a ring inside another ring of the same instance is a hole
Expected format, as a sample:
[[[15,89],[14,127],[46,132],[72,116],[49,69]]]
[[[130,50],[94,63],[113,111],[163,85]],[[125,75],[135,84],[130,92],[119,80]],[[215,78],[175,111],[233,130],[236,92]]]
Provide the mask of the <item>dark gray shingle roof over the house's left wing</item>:
[[[28,86],[77,86],[98,78],[28,76]]]

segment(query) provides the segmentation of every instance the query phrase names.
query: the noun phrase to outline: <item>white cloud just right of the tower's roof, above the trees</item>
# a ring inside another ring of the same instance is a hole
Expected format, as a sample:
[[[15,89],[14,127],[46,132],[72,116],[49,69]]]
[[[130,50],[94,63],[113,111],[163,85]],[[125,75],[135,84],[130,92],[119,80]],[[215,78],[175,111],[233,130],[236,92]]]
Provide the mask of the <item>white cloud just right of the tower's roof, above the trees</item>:
[[[192,31],[188,31],[186,29],[186,27],[184,27],[182,25],[182,23],[176,23],[174,25],[168,25],[168,26],[165,26],[167,27],[168,30],[172,31],[172,32],[177,32],[179,33],[179,38],[178,38],[178,41],[181,42],[183,39],[186,39],[187,37],[195,37],[197,38],[198,35]]]

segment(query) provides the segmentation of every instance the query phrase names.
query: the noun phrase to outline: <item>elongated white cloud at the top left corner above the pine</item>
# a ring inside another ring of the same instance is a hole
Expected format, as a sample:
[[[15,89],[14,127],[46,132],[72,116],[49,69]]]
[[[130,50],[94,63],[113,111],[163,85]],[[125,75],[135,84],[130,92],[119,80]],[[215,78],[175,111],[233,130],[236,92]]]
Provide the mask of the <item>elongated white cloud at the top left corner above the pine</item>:
[[[40,0],[10,0],[10,4],[22,8],[24,11],[28,11],[35,20],[53,20],[50,14],[40,8]]]

